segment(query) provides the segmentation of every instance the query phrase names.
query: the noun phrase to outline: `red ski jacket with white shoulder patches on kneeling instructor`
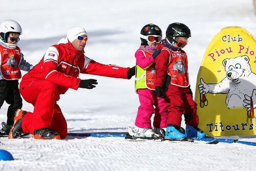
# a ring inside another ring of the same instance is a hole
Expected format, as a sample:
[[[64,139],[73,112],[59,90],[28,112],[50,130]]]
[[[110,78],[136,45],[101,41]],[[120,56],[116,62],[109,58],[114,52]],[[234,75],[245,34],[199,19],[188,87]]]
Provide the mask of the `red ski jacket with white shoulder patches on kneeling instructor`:
[[[58,94],[64,94],[69,88],[78,89],[80,73],[105,77],[127,79],[127,71],[116,65],[105,65],[84,56],[72,44],[60,43],[48,48],[44,57],[27,74],[22,83],[34,80],[48,80],[58,85]]]

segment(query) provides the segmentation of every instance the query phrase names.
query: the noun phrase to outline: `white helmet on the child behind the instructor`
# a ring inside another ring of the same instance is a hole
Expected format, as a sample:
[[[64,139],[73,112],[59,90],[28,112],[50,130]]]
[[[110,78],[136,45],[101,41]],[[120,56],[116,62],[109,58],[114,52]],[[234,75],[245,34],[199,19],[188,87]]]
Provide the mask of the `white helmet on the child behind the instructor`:
[[[8,19],[4,20],[0,23],[0,35],[1,39],[6,42],[6,38],[8,36],[8,32],[15,32],[22,34],[22,27],[20,27],[19,23],[14,20]]]

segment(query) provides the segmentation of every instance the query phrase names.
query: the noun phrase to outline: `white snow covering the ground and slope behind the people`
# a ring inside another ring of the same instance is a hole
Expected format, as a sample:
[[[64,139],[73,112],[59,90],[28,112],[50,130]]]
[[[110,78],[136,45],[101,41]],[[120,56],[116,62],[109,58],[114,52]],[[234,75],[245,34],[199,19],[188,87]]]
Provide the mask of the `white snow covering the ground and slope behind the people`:
[[[240,26],[256,36],[256,16],[251,0],[200,1],[1,1],[0,21],[14,19],[23,28],[19,47],[25,59],[37,64],[47,48],[74,26],[89,35],[86,56],[104,64],[132,67],[140,45],[140,30],[158,25],[165,35],[169,23],[182,22],[192,37],[188,54],[191,88],[195,92],[198,69],[211,39],[228,26]],[[25,72],[23,72],[25,74]],[[94,78],[93,90],[70,89],[59,106],[68,132],[126,132],[134,126],[139,106],[131,80]],[[33,106],[23,101],[23,109]],[[6,121],[7,104],[0,121]],[[182,123],[184,126],[184,123]],[[256,138],[244,138],[254,141]],[[0,149],[15,160],[0,161],[0,170],[255,170],[255,146],[219,143],[134,142],[124,138],[68,136],[65,140],[0,139]]]

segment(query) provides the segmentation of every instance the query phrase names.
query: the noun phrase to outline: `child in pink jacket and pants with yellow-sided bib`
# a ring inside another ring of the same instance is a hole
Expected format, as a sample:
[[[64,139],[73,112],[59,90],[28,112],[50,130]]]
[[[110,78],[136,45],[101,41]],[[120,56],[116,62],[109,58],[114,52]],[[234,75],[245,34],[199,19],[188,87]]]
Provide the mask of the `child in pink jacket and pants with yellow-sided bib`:
[[[140,106],[135,120],[135,128],[128,128],[129,134],[134,137],[154,137],[164,135],[167,121],[167,108],[164,99],[155,92],[156,70],[154,60],[161,52],[157,45],[162,40],[161,29],[148,24],[140,32],[141,45],[136,57],[136,91],[139,94]],[[155,106],[155,108],[154,108]],[[151,126],[151,117],[154,117],[154,129]]]

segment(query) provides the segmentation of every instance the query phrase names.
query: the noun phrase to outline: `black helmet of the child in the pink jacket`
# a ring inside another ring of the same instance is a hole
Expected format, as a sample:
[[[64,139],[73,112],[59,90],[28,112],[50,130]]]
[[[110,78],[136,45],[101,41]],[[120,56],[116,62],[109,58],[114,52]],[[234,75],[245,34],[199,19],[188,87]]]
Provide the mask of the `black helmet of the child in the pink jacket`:
[[[162,30],[157,25],[154,25],[151,23],[151,24],[144,26],[141,29],[140,34],[143,36],[156,35],[156,36],[162,37]],[[140,38],[140,40],[141,40],[141,45],[148,45],[146,39]]]

